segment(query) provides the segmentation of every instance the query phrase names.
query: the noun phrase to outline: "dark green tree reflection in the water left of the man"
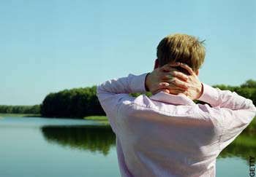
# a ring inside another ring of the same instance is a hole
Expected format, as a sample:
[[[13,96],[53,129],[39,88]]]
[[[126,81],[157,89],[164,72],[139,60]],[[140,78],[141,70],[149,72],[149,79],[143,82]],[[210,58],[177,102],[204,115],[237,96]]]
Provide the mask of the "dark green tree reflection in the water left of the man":
[[[42,134],[50,143],[107,155],[116,136],[107,126],[45,126]]]

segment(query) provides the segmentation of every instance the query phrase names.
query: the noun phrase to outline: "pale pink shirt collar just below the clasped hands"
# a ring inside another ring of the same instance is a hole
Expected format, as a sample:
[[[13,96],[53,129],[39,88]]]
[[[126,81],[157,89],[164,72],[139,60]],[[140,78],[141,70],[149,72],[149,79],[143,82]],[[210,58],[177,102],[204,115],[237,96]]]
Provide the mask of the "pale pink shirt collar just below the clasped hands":
[[[161,101],[164,103],[170,103],[174,105],[188,105],[188,106],[195,105],[194,101],[187,98],[186,95],[171,95],[168,93],[164,93],[162,91],[155,95],[152,95],[150,99],[154,101]]]

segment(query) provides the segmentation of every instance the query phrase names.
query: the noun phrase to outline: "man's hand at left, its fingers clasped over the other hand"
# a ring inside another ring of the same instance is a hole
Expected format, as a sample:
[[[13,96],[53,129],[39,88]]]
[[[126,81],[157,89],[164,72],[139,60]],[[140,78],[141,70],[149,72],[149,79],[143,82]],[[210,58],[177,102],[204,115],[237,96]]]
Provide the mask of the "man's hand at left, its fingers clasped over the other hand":
[[[188,90],[186,83],[188,76],[181,73],[173,66],[181,66],[181,63],[166,64],[161,68],[156,68],[146,76],[146,90],[152,94],[160,91],[177,95]]]

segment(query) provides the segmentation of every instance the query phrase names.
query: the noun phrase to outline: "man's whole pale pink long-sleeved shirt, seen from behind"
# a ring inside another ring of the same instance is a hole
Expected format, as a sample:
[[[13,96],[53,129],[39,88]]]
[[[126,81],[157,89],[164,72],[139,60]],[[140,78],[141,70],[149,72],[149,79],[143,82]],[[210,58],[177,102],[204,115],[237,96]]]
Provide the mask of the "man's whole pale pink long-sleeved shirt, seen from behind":
[[[111,79],[97,97],[116,133],[121,176],[215,176],[219,153],[255,117],[252,101],[203,84],[200,101],[159,92],[147,97],[146,74]]]

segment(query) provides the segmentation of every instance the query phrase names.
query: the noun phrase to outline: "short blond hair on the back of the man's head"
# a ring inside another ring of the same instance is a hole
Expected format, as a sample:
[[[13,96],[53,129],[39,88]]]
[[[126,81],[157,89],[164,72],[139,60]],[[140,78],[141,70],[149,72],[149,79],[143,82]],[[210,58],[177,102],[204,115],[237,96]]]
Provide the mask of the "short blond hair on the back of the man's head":
[[[167,63],[181,62],[187,63],[193,71],[197,71],[203,64],[205,55],[203,42],[187,34],[171,34],[162,39],[157,46],[159,67]]]

